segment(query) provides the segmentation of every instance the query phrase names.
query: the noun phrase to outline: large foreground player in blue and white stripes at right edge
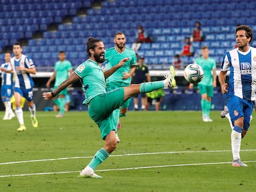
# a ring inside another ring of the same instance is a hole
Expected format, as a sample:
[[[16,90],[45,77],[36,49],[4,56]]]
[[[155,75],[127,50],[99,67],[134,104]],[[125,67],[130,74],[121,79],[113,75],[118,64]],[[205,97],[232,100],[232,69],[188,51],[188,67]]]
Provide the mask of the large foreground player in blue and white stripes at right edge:
[[[249,44],[253,40],[252,29],[247,25],[236,28],[237,48],[223,57],[219,81],[221,92],[228,98],[228,111],[234,125],[231,133],[233,166],[247,167],[240,159],[241,138],[250,125],[256,91],[256,48]],[[226,73],[230,70],[229,86]]]

